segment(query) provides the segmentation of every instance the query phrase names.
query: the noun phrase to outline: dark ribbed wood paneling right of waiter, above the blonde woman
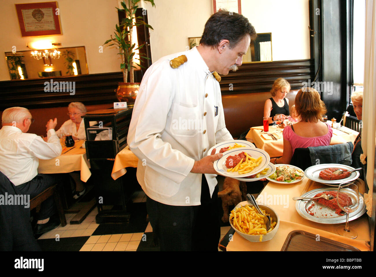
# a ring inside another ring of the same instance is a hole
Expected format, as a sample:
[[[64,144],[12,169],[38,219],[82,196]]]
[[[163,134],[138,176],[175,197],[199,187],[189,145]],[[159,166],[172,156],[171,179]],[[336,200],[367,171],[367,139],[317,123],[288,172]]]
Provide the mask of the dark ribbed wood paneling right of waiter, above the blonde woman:
[[[279,77],[285,78],[290,83],[291,89],[300,89],[304,81],[312,80],[313,70],[312,60],[243,64],[236,72],[221,76],[221,92],[222,94],[267,92]],[[233,90],[230,90],[231,88]]]

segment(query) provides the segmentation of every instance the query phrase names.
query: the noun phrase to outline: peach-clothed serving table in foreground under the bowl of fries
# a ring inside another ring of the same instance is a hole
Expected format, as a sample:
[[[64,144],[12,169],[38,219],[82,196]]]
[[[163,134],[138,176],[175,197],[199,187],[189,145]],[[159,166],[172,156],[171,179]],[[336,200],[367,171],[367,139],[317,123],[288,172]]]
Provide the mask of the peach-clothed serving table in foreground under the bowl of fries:
[[[359,187],[359,193],[363,194],[364,182],[360,180],[359,183],[362,184]],[[354,228],[358,233],[358,237],[356,239],[348,239],[337,234],[337,227],[344,225],[345,223],[317,223],[305,219],[298,214],[295,208],[296,201],[294,201],[292,198],[294,196],[301,196],[307,191],[321,187],[327,186],[311,181],[306,177],[302,181],[295,184],[278,184],[275,182],[268,182],[256,200],[261,203],[266,202],[265,204],[273,208],[279,215],[280,224],[276,235],[273,237],[273,239],[265,242],[250,242],[241,237],[231,228],[226,236],[230,236],[230,234],[233,234],[233,236],[231,236],[231,239],[226,246],[226,251],[280,251],[282,246],[284,246],[287,235],[294,230],[302,230],[315,234],[315,236],[319,235],[321,238],[331,239],[335,240],[336,242],[354,246],[361,251],[369,251],[370,248],[368,242],[370,240],[370,230],[368,217],[366,214],[349,222],[349,226]],[[328,187],[328,190],[337,190],[337,187]],[[280,203],[282,201],[277,201],[277,199],[280,199],[281,196],[282,199],[283,196],[285,196],[285,203]]]

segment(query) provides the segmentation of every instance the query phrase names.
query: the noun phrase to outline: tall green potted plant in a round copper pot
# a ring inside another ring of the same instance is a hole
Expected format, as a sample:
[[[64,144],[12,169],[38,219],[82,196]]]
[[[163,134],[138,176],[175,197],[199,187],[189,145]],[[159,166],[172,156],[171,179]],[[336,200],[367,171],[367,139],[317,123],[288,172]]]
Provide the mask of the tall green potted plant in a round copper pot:
[[[134,73],[133,70],[136,68],[133,63],[141,66],[142,59],[148,59],[146,56],[139,54],[139,58],[135,58],[135,50],[141,49],[144,47],[144,44],[136,47],[135,43],[132,43],[132,29],[134,26],[145,25],[146,27],[153,29],[152,26],[143,21],[143,17],[136,17],[136,9],[138,8],[138,2],[141,0],[125,0],[121,2],[123,9],[117,8],[119,11],[125,13],[125,18],[119,24],[115,26],[114,37],[111,35],[111,39],[107,40],[104,44],[116,45],[116,48],[119,49],[118,55],[121,56],[120,69],[123,72],[123,83],[118,83],[118,88],[115,90],[116,96],[120,102],[127,102],[127,105],[132,107],[134,105],[138,88],[140,83],[134,82]],[[144,0],[146,2],[152,3],[152,6],[155,6],[154,0]],[[103,45],[104,45],[103,44]],[[138,60],[138,61],[134,61]],[[129,74],[128,74],[129,72]],[[128,81],[129,75],[129,83]]]

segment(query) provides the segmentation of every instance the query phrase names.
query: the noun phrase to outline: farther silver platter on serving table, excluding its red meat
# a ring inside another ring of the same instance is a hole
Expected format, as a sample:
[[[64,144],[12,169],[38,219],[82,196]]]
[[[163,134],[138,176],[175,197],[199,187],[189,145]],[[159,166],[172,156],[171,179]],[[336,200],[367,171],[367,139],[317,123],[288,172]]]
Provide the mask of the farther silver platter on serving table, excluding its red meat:
[[[355,169],[353,167],[350,167],[349,165],[343,165],[343,164],[317,164],[317,165],[312,165],[311,167],[308,167],[304,171],[304,175],[312,181],[323,183],[323,184],[334,186],[334,187],[338,187],[338,185],[342,182],[354,181],[355,179],[358,179],[360,175],[359,171],[353,171],[353,172],[350,172],[350,175],[348,177],[343,178],[343,179],[327,180],[327,179],[321,178],[320,172],[328,168],[338,168],[338,169],[346,169],[346,170]]]

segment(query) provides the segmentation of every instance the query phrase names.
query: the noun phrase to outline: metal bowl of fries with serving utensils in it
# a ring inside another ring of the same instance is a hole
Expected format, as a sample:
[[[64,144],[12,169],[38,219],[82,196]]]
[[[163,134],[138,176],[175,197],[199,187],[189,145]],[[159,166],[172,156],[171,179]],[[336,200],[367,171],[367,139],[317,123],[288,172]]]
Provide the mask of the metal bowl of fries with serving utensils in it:
[[[271,207],[257,202],[259,208],[271,218],[271,230],[265,229],[264,220],[248,201],[240,202],[230,213],[230,225],[240,236],[250,242],[265,242],[273,239],[279,227],[279,216]],[[239,208],[239,209],[238,209]],[[243,214],[243,215],[242,215]],[[236,216],[236,222],[235,222]],[[236,226],[234,226],[235,224]]]

